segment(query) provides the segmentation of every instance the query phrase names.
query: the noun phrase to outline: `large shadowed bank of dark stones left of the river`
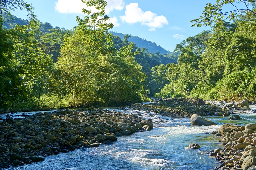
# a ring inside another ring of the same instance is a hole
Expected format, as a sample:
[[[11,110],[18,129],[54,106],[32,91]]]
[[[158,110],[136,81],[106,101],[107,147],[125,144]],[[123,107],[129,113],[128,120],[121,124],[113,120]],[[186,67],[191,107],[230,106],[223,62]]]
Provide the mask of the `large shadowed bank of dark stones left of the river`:
[[[113,144],[117,136],[151,130],[150,120],[90,107],[37,113],[0,122],[0,167],[44,161],[44,157],[80,147]]]

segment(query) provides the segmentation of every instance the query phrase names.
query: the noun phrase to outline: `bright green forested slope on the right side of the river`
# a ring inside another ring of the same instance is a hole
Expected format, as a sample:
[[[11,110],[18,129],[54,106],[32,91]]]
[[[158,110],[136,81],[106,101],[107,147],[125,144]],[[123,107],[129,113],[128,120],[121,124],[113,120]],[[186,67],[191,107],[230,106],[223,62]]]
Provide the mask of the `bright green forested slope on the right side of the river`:
[[[202,16],[192,21],[194,26],[204,23],[212,29],[177,44],[177,64],[156,66],[168,81],[156,96],[256,99],[256,3],[241,3],[248,9],[235,9],[229,15],[220,10],[228,2],[208,4]],[[230,22],[222,20],[224,15]]]

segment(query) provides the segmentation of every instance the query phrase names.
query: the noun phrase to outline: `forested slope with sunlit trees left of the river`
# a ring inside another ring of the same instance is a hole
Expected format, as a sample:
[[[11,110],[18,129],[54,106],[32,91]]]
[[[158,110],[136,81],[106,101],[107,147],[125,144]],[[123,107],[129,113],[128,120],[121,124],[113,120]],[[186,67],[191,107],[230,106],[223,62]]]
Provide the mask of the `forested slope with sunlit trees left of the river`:
[[[27,5],[24,8],[33,16]],[[152,68],[177,62],[178,53],[151,53],[137,47],[128,35],[122,40],[111,34],[113,25],[104,24],[107,17],[100,21],[93,18],[103,13],[77,17],[78,25],[66,30],[35,17],[18,19],[8,8],[4,10],[0,18],[1,108],[141,102],[165,85],[156,86]]]

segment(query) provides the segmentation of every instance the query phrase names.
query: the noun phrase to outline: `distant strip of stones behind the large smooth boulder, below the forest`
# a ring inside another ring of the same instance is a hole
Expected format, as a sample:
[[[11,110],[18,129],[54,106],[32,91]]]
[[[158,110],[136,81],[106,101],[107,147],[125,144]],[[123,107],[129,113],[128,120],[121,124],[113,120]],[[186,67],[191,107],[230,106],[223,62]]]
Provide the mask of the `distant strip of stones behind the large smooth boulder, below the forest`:
[[[252,103],[253,102],[253,103]],[[235,114],[234,110],[240,112],[250,110],[249,103],[256,104],[255,101],[241,100],[237,103],[230,103],[222,101],[223,106],[214,104],[212,102],[205,102],[202,99],[195,98],[163,98],[158,99],[155,103],[140,104],[136,103],[128,108],[133,110],[143,110],[148,112],[154,112],[162,116],[171,118],[190,118],[193,114],[199,116],[230,116]],[[256,111],[255,111],[256,112]],[[233,118],[231,119],[239,119]]]

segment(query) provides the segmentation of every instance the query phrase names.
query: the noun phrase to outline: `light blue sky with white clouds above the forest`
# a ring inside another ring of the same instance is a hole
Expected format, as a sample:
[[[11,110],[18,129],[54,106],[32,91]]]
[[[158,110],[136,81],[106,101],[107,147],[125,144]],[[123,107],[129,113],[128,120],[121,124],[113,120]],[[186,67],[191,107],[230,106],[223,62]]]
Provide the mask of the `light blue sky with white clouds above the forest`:
[[[72,29],[75,17],[82,17],[81,0],[25,0],[34,7],[41,22],[53,27]],[[138,36],[173,51],[175,45],[190,36],[209,29],[191,27],[191,20],[198,18],[207,2],[216,0],[106,0],[106,13],[111,17],[111,31]],[[26,11],[13,15],[26,19]]]

